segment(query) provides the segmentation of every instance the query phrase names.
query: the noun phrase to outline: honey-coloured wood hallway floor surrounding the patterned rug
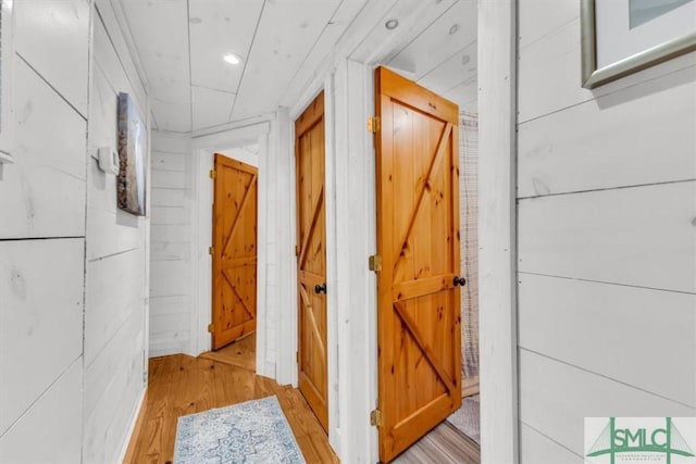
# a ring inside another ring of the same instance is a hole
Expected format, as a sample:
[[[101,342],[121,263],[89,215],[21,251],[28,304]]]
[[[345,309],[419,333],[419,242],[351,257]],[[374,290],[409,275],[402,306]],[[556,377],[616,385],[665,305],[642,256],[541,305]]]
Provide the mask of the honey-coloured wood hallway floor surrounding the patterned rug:
[[[124,462],[171,463],[179,416],[271,394],[277,396],[308,464],[338,463],[299,391],[246,368],[185,354],[150,360],[146,404]]]

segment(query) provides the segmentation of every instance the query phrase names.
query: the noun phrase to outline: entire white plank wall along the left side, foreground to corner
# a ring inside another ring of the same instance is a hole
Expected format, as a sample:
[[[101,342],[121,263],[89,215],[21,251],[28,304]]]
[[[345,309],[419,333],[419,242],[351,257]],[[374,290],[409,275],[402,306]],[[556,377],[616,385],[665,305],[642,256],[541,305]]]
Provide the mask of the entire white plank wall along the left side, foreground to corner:
[[[142,114],[147,98],[110,2],[99,14],[87,0],[14,4],[0,462],[117,462],[145,388],[148,221],[116,209],[92,156],[115,148],[116,93]]]

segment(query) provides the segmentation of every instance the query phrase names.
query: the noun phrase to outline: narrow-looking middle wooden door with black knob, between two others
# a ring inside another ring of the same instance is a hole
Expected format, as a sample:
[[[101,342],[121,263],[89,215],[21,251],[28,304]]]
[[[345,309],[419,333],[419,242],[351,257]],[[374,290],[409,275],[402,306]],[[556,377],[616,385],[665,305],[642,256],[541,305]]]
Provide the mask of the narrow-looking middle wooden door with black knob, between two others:
[[[299,389],[328,430],[324,93],[295,122]]]

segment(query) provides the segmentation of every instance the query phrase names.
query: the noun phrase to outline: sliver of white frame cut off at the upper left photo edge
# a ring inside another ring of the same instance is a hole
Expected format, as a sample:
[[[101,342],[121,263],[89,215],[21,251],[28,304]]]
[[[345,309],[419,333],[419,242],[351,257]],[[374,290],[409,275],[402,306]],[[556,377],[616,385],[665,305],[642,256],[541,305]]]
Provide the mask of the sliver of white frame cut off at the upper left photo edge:
[[[12,1],[0,0],[0,164],[12,163]]]

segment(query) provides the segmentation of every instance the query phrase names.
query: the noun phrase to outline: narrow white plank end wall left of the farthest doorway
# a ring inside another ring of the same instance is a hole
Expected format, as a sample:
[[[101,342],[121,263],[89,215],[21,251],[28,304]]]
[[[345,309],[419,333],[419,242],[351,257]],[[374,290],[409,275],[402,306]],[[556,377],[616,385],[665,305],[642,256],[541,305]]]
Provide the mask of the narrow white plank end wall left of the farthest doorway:
[[[192,353],[191,143],[152,133],[149,355]]]

